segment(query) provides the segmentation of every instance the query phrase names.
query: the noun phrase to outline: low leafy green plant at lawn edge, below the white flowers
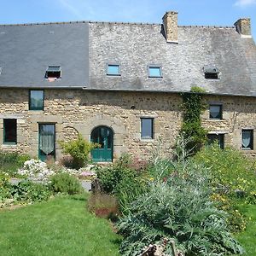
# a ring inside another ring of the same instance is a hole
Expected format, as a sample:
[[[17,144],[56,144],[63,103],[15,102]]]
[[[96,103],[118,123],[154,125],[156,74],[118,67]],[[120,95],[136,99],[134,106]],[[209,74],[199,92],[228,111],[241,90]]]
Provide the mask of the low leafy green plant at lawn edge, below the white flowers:
[[[51,195],[46,185],[42,183],[32,183],[28,180],[14,184],[10,191],[15,201],[46,201]]]

